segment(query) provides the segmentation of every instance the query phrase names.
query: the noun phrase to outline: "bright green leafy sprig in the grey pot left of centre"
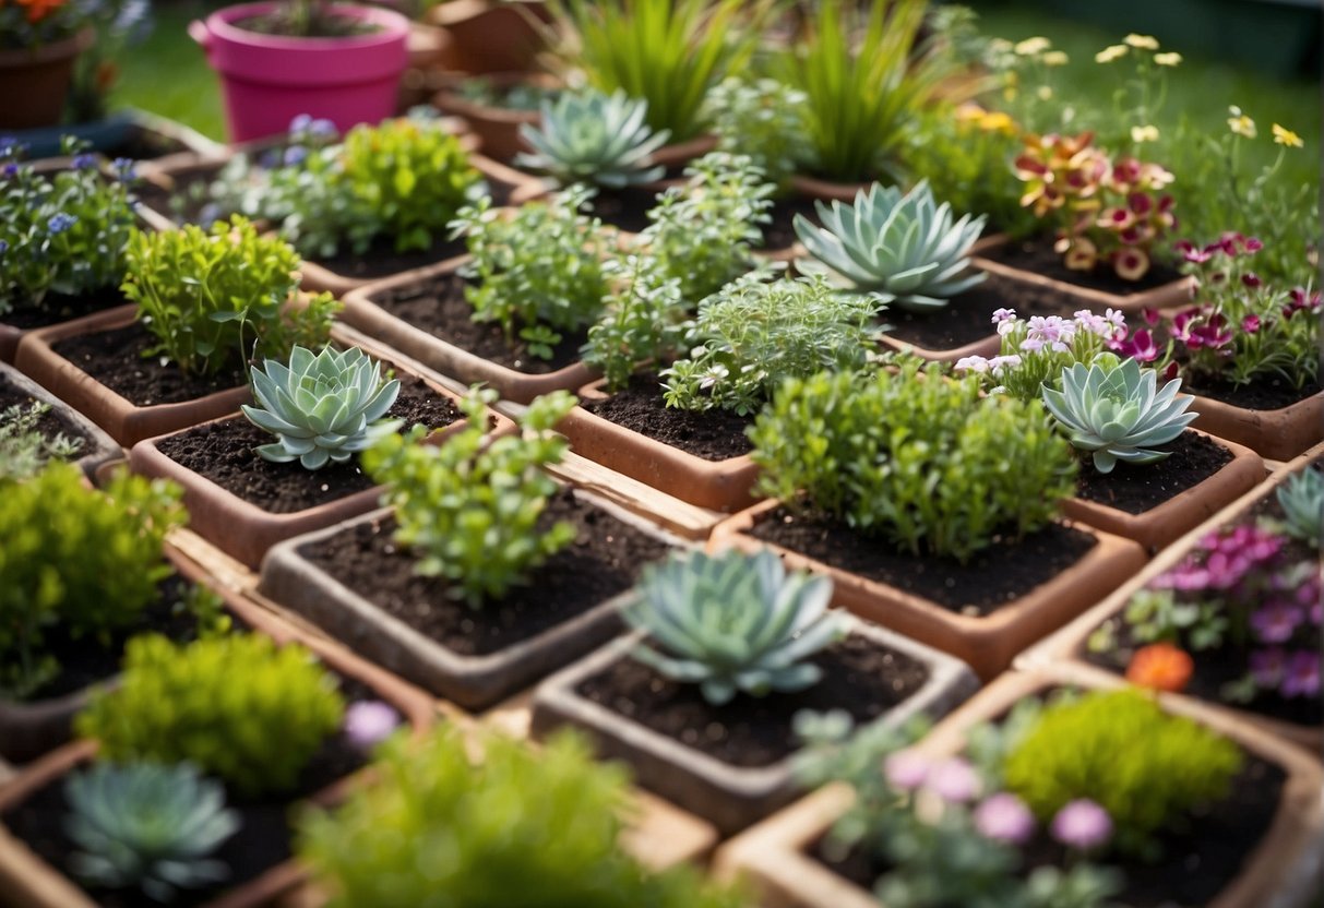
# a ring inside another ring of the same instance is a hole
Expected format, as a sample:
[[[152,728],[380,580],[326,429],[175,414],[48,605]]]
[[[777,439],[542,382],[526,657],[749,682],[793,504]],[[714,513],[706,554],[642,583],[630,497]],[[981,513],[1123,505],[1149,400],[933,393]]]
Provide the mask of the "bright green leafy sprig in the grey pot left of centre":
[[[449,593],[479,608],[524,582],[528,572],[575,539],[567,523],[542,531],[539,518],[556,483],[543,469],[569,449],[553,428],[576,398],[553,392],[519,420],[519,434],[486,439],[493,390],[473,390],[459,409],[467,425],[445,445],[422,445],[425,431],[388,435],[363,454],[363,467],[389,490],[396,541],[418,555],[414,570],[445,577]]]

